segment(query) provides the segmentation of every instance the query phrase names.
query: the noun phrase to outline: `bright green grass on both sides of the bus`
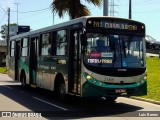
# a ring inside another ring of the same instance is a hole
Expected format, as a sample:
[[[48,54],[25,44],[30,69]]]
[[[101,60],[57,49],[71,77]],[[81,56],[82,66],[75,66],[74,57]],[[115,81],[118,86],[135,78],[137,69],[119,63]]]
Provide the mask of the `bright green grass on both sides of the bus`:
[[[0,73],[6,73],[6,67],[0,67]],[[147,57],[148,94],[142,98],[160,101],[160,58]]]

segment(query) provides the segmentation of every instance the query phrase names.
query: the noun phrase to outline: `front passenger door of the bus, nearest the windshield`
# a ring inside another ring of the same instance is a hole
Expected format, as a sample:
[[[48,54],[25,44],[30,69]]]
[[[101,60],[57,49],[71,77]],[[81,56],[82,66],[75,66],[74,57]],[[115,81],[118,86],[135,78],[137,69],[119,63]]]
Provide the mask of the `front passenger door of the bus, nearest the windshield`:
[[[78,29],[71,30],[69,40],[68,90],[70,93],[77,95],[80,95],[81,79],[80,33],[81,31]]]

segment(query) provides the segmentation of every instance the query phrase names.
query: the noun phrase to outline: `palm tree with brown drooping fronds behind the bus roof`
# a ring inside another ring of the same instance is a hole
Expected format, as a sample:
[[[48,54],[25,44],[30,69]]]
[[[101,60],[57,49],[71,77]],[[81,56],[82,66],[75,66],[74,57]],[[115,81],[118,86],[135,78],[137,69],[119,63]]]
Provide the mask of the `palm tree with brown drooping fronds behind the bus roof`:
[[[85,1],[98,7],[100,7],[102,3],[102,0]],[[65,13],[68,13],[71,19],[90,15],[89,9],[81,3],[81,0],[53,0],[51,8],[53,12],[58,13],[60,18],[62,18]]]

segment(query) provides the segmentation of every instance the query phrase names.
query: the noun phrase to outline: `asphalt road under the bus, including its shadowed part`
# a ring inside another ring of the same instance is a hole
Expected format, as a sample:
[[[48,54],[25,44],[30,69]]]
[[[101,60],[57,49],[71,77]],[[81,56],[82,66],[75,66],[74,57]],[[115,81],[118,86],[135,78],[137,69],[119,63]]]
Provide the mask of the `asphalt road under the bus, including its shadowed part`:
[[[124,97],[115,103],[76,97],[61,102],[49,91],[22,89],[20,85],[0,74],[0,116],[11,115],[14,119],[32,116],[34,119],[160,120],[160,105]]]

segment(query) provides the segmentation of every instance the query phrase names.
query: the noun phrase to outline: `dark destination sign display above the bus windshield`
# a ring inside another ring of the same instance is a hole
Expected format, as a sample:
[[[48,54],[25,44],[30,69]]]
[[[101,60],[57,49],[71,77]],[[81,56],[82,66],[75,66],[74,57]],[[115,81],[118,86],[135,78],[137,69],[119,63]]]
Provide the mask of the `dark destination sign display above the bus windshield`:
[[[128,31],[144,30],[144,25],[136,22],[118,19],[90,19],[87,21],[87,27],[89,28],[107,28],[118,29]]]

